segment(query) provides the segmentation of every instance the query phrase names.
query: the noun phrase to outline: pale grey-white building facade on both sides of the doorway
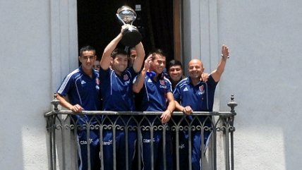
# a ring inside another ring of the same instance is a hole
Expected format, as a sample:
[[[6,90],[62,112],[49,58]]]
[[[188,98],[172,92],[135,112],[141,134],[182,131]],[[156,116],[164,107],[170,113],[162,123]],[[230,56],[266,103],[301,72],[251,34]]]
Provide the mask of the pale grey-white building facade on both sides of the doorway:
[[[238,102],[235,169],[299,169],[302,1],[181,4],[185,62],[202,59],[210,73],[221,45],[231,51],[214,110],[229,110],[230,95]],[[49,169],[44,113],[78,67],[76,8],[75,0],[0,2],[1,169]]]

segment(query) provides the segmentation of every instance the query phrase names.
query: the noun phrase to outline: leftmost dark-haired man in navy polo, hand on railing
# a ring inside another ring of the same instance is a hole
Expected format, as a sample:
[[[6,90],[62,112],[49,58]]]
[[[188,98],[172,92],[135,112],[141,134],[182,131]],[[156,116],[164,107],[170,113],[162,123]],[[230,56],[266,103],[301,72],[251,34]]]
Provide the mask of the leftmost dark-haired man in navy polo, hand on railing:
[[[62,107],[75,113],[83,110],[98,111],[101,109],[101,97],[99,92],[99,73],[92,68],[97,56],[95,48],[85,46],[80,49],[78,57],[81,66],[66,75],[63,83],[57,90],[57,99]],[[68,99],[67,99],[68,98]],[[97,120],[92,116],[84,114],[72,115],[72,123],[78,126],[96,124]],[[85,170],[87,164],[87,130],[79,129],[78,133],[78,169]],[[97,130],[90,130],[90,164],[92,169],[99,169],[99,133]]]

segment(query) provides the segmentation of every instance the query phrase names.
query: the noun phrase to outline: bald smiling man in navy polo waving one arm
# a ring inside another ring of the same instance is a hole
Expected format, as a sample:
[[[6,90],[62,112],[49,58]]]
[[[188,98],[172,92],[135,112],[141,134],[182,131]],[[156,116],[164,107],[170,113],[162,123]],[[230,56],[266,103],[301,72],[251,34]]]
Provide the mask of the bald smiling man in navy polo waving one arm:
[[[173,92],[176,110],[183,111],[188,122],[192,122],[192,126],[201,126],[199,121],[205,124],[203,126],[211,127],[211,118],[208,116],[198,116],[198,119],[193,119],[191,114],[193,111],[212,111],[214,104],[215,88],[219,82],[224,67],[229,58],[229,47],[222,45],[222,57],[219,60],[217,69],[210,73],[207,81],[203,81],[201,75],[205,68],[203,62],[199,59],[193,59],[188,63],[189,77],[184,78],[179,82]],[[183,126],[188,126],[183,124]],[[181,160],[180,169],[189,169],[188,164],[188,131],[182,131],[179,134],[179,160]],[[204,138],[204,144],[206,144],[208,138],[210,138],[209,130],[202,130],[201,132]],[[204,151],[201,151],[202,136],[200,130],[192,131],[192,169],[200,170],[200,159]]]

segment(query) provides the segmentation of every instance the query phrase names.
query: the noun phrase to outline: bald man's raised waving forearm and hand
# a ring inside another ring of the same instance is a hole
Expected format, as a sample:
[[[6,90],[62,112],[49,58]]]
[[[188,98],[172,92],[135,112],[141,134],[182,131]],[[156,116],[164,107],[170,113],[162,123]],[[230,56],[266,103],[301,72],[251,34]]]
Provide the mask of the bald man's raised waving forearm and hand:
[[[215,71],[212,71],[211,75],[215,82],[218,82],[224,73],[224,67],[226,66],[227,59],[229,58],[229,47],[222,45],[222,58],[220,59]]]

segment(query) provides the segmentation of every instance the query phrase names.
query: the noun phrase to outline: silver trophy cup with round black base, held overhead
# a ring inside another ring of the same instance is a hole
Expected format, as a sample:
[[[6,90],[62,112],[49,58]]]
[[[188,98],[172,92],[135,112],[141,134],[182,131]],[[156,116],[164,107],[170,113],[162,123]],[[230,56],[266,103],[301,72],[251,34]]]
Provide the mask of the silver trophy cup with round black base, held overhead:
[[[121,43],[128,47],[134,47],[142,40],[142,35],[138,32],[138,28],[132,25],[136,19],[135,11],[129,6],[121,6],[116,12],[116,17],[123,23],[123,25],[129,24],[128,27],[123,31],[123,38]]]

